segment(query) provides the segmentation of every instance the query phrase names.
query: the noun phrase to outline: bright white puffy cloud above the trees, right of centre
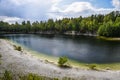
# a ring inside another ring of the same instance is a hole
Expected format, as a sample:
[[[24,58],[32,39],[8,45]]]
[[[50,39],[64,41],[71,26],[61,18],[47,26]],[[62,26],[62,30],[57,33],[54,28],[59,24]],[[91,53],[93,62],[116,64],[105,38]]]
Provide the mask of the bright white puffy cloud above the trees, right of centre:
[[[90,2],[73,2],[69,5],[64,5],[58,7],[58,5],[53,5],[51,8],[51,13],[48,15],[51,18],[61,19],[63,17],[79,17],[79,16],[89,16],[91,14],[106,14],[115,9],[112,8],[96,8]]]

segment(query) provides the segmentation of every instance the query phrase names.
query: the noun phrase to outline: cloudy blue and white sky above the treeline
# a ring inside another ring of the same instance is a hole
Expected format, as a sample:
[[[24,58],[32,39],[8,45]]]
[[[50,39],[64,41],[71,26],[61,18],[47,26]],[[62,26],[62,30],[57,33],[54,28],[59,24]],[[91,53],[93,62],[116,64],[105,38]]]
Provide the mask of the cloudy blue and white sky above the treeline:
[[[0,0],[0,20],[41,21],[120,11],[120,0]]]

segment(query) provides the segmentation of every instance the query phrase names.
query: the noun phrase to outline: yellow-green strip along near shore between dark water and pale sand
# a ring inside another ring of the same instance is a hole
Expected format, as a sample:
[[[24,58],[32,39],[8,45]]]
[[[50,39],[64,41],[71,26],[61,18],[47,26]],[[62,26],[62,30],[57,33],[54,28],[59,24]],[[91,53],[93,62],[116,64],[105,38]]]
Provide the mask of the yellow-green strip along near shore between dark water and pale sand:
[[[49,62],[51,64],[57,65],[57,62],[58,62],[58,59],[59,59],[58,57],[53,57],[53,56],[50,56],[50,55],[45,55],[43,53],[39,53],[37,51],[33,51],[33,50],[31,50],[29,48],[26,48],[25,46],[20,45],[16,42],[13,42],[13,41],[12,41],[11,44],[21,46],[23,51],[25,51],[27,53],[30,53],[30,55],[32,55],[33,57],[36,57],[36,58],[39,58],[39,59],[44,60],[46,62]],[[92,64],[87,64],[87,63],[77,62],[77,61],[69,59],[68,60],[68,65],[71,66],[71,67],[74,67],[74,68],[81,68],[81,69],[95,68],[96,70],[120,70],[120,63],[108,63],[108,64],[107,63],[106,64],[92,63]]]

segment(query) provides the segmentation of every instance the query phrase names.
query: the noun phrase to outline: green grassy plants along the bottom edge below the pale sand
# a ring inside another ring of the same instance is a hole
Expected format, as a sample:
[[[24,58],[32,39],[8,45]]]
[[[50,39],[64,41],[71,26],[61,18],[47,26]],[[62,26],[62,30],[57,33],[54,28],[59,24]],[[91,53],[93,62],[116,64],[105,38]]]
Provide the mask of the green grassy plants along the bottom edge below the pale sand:
[[[74,80],[73,78],[70,77],[63,77],[62,79],[59,79],[59,78],[40,76],[32,73],[28,73],[26,75],[17,74],[15,76],[11,71],[7,71],[7,70],[5,70],[3,76],[0,77],[0,80],[16,80],[16,77],[18,78],[17,80]]]

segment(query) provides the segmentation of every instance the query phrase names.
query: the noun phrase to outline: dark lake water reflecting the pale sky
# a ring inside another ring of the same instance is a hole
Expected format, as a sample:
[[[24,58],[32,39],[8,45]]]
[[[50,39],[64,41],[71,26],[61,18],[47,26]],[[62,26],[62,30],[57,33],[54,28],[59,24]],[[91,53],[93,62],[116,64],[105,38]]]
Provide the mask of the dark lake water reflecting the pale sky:
[[[1,37],[47,55],[67,56],[79,62],[120,62],[120,41],[65,35],[6,34]]]

